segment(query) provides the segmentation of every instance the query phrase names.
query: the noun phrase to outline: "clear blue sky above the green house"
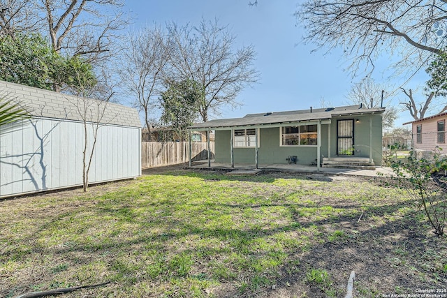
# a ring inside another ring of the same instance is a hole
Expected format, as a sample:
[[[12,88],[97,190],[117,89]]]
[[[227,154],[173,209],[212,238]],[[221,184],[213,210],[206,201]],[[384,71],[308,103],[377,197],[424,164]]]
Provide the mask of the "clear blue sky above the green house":
[[[352,83],[360,78],[352,80],[343,70],[348,61],[343,59],[340,50],[332,50],[330,54],[325,54],[324,50],[312,52],[314,45],[302,43],[305,32],[293,16],[298,1],[265,0],[259,1],[258,6],[248,3],[249,0],[126,0],[124,8],[134,17],[131,30],[150,27],[154,22],[196,25],[202,19],[217,18],[219,24],[228,25],[237,36],[237,47],[254,46],[255,67],[261,78],[237,97],[242,107],[223,109],[219,118],[305,110],[311,106],[321,107],[322,100],[335,106],[349,104],[345,96]],[[396,103],[397,100],[395,98]],[[395,126],[411,121],[409,112],[400,115]]]

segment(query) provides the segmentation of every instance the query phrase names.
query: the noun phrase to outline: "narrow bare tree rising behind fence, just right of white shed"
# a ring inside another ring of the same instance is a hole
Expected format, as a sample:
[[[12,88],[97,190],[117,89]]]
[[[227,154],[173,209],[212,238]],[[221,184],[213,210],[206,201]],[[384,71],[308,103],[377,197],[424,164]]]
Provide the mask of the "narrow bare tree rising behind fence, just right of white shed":
[[[133,105],[145,114],[145,126],[150,134],[150,112],[155,99],[163,91],[164,71],[170,59],[168,37],[160,27],[142,29],[127,38],[124,64],[119,70],[126,89],[135,96]]]

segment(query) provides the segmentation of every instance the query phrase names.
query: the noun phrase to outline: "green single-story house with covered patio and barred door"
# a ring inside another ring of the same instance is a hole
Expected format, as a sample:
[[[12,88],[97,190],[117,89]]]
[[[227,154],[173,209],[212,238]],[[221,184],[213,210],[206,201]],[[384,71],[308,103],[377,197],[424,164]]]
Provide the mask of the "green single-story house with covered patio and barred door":
[[[189,129],[215,132],[216,163],[257,167],[258,163],[293,162],[320,167],[342,157],[381,165],[384,111],[384,107],[362,105],[311,108],[211,120]]]

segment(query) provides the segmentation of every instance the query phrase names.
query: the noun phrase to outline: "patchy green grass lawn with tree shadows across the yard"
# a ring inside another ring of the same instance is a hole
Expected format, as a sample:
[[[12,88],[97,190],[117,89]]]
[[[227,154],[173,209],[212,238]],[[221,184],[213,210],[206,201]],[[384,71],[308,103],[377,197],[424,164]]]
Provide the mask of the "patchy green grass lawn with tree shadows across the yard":
[[[173,170],[0,201],[0,297],[355,297],[447,289],[447,240],[381,178]]]

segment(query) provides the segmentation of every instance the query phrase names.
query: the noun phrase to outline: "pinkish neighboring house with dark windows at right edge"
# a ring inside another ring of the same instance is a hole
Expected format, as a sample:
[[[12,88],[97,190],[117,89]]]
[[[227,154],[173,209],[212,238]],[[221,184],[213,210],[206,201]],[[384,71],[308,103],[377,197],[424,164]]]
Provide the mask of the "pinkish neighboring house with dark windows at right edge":
[[[439,147],[446,153],[446,120],[447,112],[404,123],[411,124],[413,149],[434,151]]]

